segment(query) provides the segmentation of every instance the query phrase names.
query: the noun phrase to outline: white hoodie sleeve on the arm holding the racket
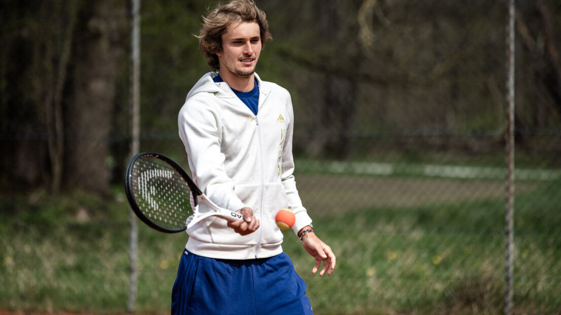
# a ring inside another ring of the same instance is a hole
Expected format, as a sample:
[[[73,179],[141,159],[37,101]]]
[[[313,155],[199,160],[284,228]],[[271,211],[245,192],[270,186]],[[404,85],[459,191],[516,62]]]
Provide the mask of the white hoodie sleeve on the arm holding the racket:
[[[245,205],[234,193],[233,180],[224,169],[220,114],[205,94],[209,93],[187,98],[178,117],[179,135],[187,151],[194,182],[214,203],[236,211]]]

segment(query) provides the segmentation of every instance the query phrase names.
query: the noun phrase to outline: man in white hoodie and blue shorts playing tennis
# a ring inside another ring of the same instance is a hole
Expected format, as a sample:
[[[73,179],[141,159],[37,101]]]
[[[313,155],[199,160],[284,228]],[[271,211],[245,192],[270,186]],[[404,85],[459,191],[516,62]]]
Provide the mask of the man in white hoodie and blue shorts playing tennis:
[[[213,72],[188,93],[180,137],[197,186],[244,220],[213,217],[187,230],[172,314],[312,314],[306,284],[282,252],[276,212],[294,212],[292,229],[315,258],[312,273],[330,275],[335,255],[296,189],[290,95],[255,73],[272,39],[265,13],[251,0],[219,4],[197,37]]]

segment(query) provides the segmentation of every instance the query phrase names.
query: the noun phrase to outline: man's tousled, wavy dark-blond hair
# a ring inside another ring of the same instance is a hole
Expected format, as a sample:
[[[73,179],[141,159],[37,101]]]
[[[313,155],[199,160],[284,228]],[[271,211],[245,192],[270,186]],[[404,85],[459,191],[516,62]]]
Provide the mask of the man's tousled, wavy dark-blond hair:
[[[203,17],[203,27],[197,38],[199,48],[205,55],[210,68],[218,71],[220,64],[216,53],[222,51],[222,35],[229,25],[236,22],[257,22],[259,24],[261,47],[273,36],[269,32],[265,12],[257,8],[252,0],[233,0],[227,4],[219,3],[218,6]]]

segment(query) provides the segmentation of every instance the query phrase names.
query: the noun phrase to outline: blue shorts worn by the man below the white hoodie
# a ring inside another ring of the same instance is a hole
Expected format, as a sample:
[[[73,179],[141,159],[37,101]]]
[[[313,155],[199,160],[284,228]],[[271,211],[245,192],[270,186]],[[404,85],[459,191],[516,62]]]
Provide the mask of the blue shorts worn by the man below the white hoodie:
[[[306,283],[285,253],[217,260],[185,251],[172,290],[172,315],[310,315]]]

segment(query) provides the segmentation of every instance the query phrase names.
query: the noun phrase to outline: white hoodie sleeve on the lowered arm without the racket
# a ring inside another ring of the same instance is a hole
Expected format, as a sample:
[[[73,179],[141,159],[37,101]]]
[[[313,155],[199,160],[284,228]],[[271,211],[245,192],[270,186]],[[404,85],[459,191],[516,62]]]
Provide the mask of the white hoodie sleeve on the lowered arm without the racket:
[[[310,225],[312,219],[307,214],[306,208],[302,206],[302,201],[300,199],[300,194],[298,194],[298,189],[296,188],[296,180],[294,177],[294,158],[292,156],[292,133],[294,129],[294,114],[292,109],[292,100],[288,91],[284,90],[283,99],[286,101],[287,113],[289,117],[287,119],[287,130],[286,138],[283,145],[282,153],[282,184],[284,186],[284,191],[287,194],[288,207],[294,212],[296,216],[296,222],[292,226],[292,230],[297,234],[304,226]]]

